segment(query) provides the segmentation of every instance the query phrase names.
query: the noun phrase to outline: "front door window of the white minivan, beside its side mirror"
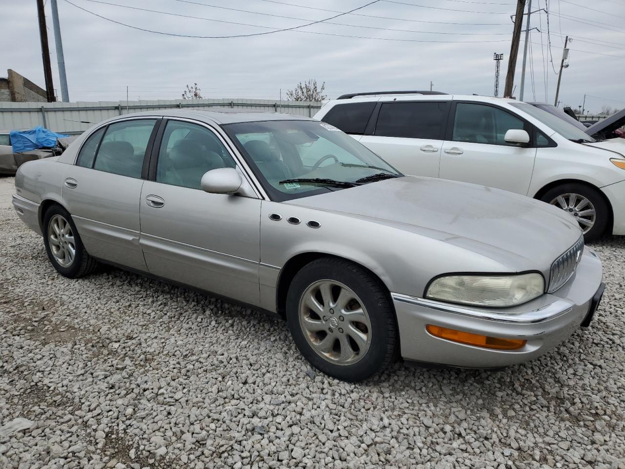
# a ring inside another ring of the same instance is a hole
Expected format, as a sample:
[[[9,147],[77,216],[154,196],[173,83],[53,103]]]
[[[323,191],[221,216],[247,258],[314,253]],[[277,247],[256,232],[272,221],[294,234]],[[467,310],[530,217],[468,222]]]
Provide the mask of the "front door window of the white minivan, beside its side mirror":
[[[514,146],[504,140],[509,129],[524,129],[524,123],[503,109],[483,104],[457,103],[451,139],[457,142]]]

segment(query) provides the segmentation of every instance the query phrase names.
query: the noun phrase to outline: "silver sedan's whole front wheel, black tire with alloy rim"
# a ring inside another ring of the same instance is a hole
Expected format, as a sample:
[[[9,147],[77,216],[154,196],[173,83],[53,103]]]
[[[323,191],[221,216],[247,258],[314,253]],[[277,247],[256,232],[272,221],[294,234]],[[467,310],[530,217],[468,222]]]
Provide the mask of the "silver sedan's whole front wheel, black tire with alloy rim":
[[[361,381],[380,373],[399,350],[386,288],[346,260],[320,258],[304,266],[289,286],[286,320],[304,358],[339,380]]]

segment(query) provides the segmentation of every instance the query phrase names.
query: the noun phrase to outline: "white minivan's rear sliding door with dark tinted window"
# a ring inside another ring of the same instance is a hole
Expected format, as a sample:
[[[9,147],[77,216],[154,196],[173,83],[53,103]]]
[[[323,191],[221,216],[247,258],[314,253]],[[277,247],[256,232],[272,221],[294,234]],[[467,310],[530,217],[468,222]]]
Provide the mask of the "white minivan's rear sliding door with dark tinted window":
[[[360,143],[402,173],[437,178],[448,113],[444,99],[383,101],[371,134]]]

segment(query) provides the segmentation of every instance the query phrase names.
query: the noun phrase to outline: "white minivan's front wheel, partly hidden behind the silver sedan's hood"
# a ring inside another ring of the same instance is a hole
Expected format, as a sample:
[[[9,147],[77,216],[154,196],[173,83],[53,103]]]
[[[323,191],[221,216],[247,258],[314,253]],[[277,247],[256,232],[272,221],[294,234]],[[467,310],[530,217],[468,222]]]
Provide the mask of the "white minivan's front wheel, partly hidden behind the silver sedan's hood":
[[[584,230],[586,243],[598,240],[606,232],[610,209],[601,193],[591,186],[578,183],[561,184],[549,189],[542,195],[541,200],[571,213],[577,219],[579,227]],[[589,214],[591,209],[594,210],[594,218],[593,214]],[[580,219],[585,219],[586,222]],[[588,226],[588,223],[592,225]]]

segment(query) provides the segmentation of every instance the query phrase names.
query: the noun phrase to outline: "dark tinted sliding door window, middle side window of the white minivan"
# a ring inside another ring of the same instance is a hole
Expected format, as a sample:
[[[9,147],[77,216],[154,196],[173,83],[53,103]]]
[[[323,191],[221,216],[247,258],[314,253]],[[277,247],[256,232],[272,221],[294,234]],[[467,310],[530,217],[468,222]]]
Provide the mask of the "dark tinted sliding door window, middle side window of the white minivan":
[[[374,135],[441,140],[447,103],[384,103]]]

